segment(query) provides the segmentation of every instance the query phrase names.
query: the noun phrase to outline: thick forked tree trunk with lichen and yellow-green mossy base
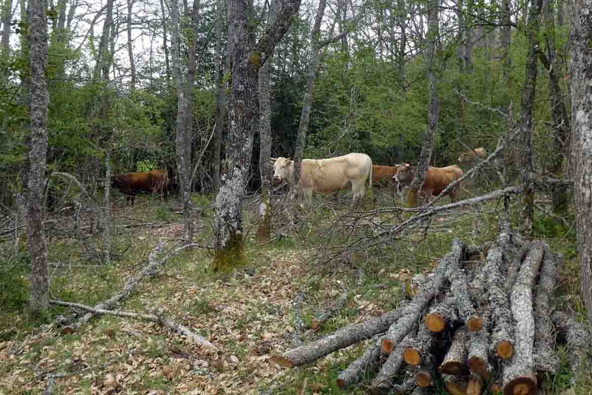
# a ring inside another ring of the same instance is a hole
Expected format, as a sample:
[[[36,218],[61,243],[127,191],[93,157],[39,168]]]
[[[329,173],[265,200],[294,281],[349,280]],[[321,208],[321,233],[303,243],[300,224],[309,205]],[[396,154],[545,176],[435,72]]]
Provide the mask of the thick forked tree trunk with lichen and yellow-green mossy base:
[[[258,115],[258,72],[274,47],[284,37],[301,0],[285,0],[275,23],[268,26],[255,45],[250,9],[240,0],[229,7],[229,48],[232,84],[229,102],[227,163],[214,204],[214,271],[242,263],[244,240],[242,197],[246,187],[252,147],[253,118]]]

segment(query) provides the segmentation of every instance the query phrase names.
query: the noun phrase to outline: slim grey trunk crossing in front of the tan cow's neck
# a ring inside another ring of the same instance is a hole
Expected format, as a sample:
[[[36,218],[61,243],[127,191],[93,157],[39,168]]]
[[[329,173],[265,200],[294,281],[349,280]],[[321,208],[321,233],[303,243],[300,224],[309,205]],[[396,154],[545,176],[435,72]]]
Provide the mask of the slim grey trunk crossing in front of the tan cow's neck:
[[[436,78],[436,40],[439,36],[438,2],[430,1],[427,9],[427,84],[429,85],[429,107],[427,115],[426,137],[422,145],[422,153],[417,164],[417,171],[407,192],[407,207],[417,206],[417,197],[426,181],[426,171],[432,159],[434,149],[434,134],[438,127],[439,104],[438,104],[438,80]]]

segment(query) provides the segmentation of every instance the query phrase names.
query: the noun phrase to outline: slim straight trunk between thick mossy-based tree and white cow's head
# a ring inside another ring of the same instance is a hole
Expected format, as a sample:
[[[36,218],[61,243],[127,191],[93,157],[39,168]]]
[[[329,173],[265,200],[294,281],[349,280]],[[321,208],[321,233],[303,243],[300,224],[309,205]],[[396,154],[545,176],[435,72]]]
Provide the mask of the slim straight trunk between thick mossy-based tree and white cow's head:
[[[272,0],[269,4],[267,24],[275,21],[278,0]],[[269,63],[268,61],[259,69],[259,172],[261,175],[261,205],[259,207],[259,227],[257,229],[257,241],[263,243],[269,240],[271,232],[271,98],[269,95]]]

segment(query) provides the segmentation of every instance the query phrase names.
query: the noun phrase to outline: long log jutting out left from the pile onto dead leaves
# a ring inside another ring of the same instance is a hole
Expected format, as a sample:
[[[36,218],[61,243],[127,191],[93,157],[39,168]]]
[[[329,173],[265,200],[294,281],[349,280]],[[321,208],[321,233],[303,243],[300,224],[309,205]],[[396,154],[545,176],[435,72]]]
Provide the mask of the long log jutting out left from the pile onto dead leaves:
[[[333,351],[346,348],[352,344],[370,339],[378,333],[385,332],[393,322],[401,317],[401,313],[405,309],[406,305],[403,305],[381,316],[365,320],[361,323],[344,326],[324,338],[292,349],[284,355],[274,355],[271,357],[271,360],[287,368],[316,361],[316,359],[324,357]]]

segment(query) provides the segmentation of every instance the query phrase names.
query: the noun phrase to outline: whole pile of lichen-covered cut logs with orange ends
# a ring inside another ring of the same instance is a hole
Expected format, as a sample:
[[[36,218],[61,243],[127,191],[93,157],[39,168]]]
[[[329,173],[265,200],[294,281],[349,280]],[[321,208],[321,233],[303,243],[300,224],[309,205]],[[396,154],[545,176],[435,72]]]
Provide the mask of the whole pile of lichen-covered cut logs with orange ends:
[[[363,383],[372,394],[430,394],[442,380],[453,395],[500,390],[535,395],[538,373],[554,374],[558,368],[558,333],[559,341],[577,349],[570,369],[581,371],[589,361],[590,335],[576,320],[551,309],[559,260],[549,246],[523,244],[506,222],[484,262],[469,265],[474,252],[474,246],[453,240],[451,251],[411,300],[272,361],[296,367],[371,339],[362,356],[339,374],[337,386],[374,377]]]

